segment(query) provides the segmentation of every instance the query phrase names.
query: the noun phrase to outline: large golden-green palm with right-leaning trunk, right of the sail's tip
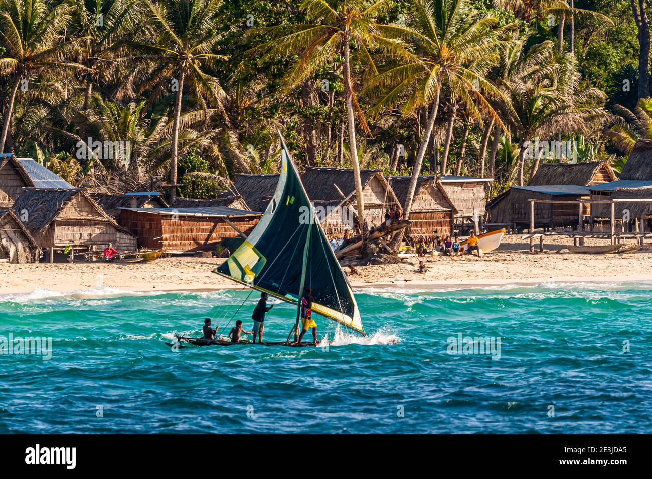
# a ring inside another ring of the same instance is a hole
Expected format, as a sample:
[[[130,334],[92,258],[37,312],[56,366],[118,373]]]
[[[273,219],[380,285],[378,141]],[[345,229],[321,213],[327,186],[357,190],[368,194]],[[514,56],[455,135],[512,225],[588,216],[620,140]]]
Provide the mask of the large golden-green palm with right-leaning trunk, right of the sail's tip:
[[[379,96],[373,113],[397,102],[403,102],[404,115],[413,114],[417,108],[430,108],[412,167],[404,205],[406,218],[437,119],[443,85],[448,85],[482,126],[483,113],[503,126],[486,98],[488,94],[502,94],[487,80],[486,73],[498,63],[497,52],[503,45],[501,37],[512,28],[512,25],[499,27],[498,19],[492,16],[479,18],[470,0],[414,0],[413,8],[414,27],[392,29],[394,35],[415,42],[418,58],[389,66],[370,82],[370,89]]]

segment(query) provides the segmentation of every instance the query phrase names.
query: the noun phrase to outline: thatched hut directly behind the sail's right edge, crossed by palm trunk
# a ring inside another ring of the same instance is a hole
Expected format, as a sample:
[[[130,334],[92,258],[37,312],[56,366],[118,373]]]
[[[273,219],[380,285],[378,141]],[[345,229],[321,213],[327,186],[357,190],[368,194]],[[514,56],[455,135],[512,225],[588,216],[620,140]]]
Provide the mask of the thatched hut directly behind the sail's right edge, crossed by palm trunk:
[[[396,207],[398,198],[379,169],[360,171],[363,187],[364,221],[368,227],[384,221],[385,210]],[[307,167],[301,182],[329,236],[341,235],[357,223],[357,201],[353,170],[346,168]],[[323,215],[319,209],[323,208]],[[353,220],[353,221],[351,221]]]

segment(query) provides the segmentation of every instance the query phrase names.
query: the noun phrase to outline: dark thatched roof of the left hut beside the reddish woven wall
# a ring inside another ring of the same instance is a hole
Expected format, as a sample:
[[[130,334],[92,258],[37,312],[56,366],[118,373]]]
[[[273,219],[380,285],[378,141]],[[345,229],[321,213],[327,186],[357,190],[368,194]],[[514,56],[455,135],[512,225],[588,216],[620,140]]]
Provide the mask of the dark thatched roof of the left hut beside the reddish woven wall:
[[[118,225],[113,218],[108,216],[102,210],[93,198],[88,196],[83,190],[25,190],[21,196],[16,199],[12,211],[19,218],[23,214],[23,210],[27,213],[27,221],[25,227],[32,233],[42,231],[50,223],[52,223],[61,210],[67,205],[68,201],[72,200],[77,195],[83,195],[91,206],[100,214],[104,220],[113,225],[115,229],[122,231],[128,235],[132,235],[125,228]]]

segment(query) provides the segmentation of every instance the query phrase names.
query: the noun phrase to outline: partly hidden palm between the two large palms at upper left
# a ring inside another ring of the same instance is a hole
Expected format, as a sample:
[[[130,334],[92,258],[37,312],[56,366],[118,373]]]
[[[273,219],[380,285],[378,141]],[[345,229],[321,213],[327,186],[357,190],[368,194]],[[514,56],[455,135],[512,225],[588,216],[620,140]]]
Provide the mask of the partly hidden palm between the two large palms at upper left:
[[[87,109],[93,84],[113,64],[108,53],[120,38],[134,33],[139,13],[136,0],[68,0],[72,6],[72,28],[83,38],[83,61],[87,66],[83,109]]]

